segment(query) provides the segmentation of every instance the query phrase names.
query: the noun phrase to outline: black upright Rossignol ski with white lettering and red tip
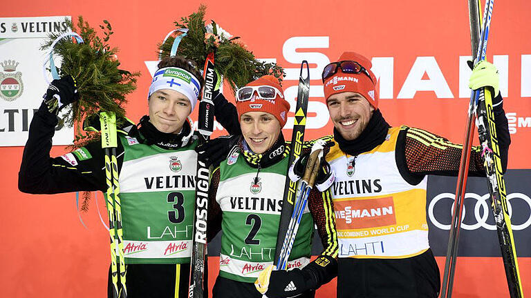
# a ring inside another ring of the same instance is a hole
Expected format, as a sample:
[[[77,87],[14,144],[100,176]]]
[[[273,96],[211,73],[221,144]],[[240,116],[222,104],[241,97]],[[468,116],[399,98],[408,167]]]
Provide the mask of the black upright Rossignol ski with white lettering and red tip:
[[[205,61],[203,70],[203,97],[199,103],[198,126],[199,143],[206,143],[214,130],[214,102],[212,93],[216,86],[214,73],[214,52],[210,52]],[[203,161],[197,160],[196,180],[196,208],[194,213],[194,232],[192,233],[192,259],[190,260],[190,280],[188,297],[203,298],[205,289],[203,279],[205,276],[205,257],[207,252],[207,212],[209,170]]]

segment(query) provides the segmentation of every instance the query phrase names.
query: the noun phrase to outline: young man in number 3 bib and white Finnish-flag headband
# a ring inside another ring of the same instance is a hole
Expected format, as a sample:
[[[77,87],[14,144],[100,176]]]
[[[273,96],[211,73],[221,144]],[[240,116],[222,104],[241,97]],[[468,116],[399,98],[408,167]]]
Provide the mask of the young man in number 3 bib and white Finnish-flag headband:
[[[149,88],[149,116],[118,128],[129,298],[187,297],[197,162],[197,138],[187,117],[202,85],[194,63],[163,59]],[[59,107],[46,104],[54,96]],[[99,142],[50,158],[57,110],[79,98],[73,79],[54,80],[44,98],[30,126],[19,189],[33,194],[106,190]],[[109,272],[109,297],[111,289]]]

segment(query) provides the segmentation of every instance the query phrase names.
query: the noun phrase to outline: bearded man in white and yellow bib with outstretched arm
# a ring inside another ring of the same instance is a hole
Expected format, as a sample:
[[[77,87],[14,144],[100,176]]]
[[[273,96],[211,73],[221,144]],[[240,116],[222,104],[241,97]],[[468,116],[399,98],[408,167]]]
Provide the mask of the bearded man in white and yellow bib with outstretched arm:
[[[332,196],[338,248],[337,297],[438,297],[440,273],[428,243],[427,175],[456,176],[463,146],[426,130],[389,126],[378,109],[371,61],[345,52],[323,71],[335,146]],[[499,79],[476,66],[470,87],[494,88],[503,168],[510,143]],[[479,148],[469,175],[485,177]]]

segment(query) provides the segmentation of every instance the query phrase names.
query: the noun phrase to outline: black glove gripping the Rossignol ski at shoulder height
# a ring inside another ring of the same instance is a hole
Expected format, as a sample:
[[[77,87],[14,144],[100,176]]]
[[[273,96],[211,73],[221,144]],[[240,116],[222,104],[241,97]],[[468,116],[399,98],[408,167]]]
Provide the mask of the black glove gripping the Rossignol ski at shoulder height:
[[[226,135],[211,139],[207,143],[196,147],[197,158],[205,162],[207,167],[218,166],[223,159],[227,158],[230,150],[236,146],[239,139],[239,135]]]

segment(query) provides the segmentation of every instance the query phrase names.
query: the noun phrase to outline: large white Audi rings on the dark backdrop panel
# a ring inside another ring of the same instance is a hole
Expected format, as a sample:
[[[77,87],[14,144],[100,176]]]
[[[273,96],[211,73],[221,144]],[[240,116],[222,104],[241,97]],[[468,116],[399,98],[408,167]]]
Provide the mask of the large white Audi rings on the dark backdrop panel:
[[[435,208],[441,208],[440,204],[439,206],[437,203],[440,200],[443,199],[451,199],[454,201],[451,203],[451,208],[447,211],[447,214],[451,216],[451,214],[454,212],[454,203],[456,199],[456,195],[449,192],[444,192],[440,195],[437,195],[434,197],[434,199],[429,202],[428,206],[428,217],[434,226],[437,228],[440,228],[441,230],[449,230],[450,224],[441,224],[438,219],[436,219],[434,215],[434,209]],[[478,228],[485,228],[487,230],[496,230],[495,224],[488,224],[487,218],[489,217],[489,214],[492,213],[490,204],[487,202],[488,199],[490,199],[490,195],[487,193],[486,195],[480,196],[475,194],[474,192],[467,192],[465,195],[465,200],[467,199],[474,199],[476,200],[476,204],[474,205],[474,217],[476,217],[476,224],[465,224],[463,221],[465,220],[465,217],[467,217],[467,210],[465,209],[465,205],[463,204],[463,217],[461,218],[461,228],[465,230],[477,230]],[[528,204],[530,210],[531,210],[531,199],[527,195],[521,193],[521,192],[514,192],[510,195],[507,195],[507,208],[509,208],[509,216],[512,217],[512,206],[511,206],[511,200],[513,199],[521,199],[525,203]],[[482,214],[483,212],[483,214]],[[469,211],[470,214],[470,211]],[[470,215],[468,215],[470,216]],[[531,226],[531,214],[528,217],[528,220],[525,221],[523,224],[511,224],[512,230],[523,230],[525,228],[528,228],[528,226]]]

